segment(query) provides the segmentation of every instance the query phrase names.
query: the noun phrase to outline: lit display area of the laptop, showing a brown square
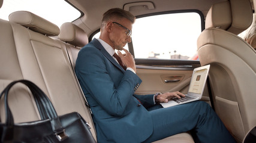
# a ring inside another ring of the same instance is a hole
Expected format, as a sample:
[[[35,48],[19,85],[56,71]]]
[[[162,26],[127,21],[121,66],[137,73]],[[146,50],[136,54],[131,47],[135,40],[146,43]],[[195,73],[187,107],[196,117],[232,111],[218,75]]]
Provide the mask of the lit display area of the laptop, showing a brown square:
[[[201,69],[194,71],[192,76],[188,92],[194,94],[201,94],[204,88],[204,82],[207,78],[207,69]]]

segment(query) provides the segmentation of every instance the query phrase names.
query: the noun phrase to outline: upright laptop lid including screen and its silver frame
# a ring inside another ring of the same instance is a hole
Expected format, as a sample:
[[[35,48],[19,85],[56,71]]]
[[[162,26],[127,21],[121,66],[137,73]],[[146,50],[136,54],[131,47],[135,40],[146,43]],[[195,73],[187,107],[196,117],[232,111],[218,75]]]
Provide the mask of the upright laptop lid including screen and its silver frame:
[[[206,85],[209,70],[210,65],[197,67],[194,69],[188,88],[188,95],[201,98],[203,95],[204,86]]]

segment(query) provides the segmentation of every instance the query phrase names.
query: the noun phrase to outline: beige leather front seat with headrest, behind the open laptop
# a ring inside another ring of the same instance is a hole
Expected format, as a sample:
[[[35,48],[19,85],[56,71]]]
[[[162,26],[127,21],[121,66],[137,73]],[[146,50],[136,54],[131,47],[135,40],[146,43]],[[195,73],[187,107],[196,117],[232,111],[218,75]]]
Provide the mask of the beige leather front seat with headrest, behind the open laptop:
[[[256,125],[256,52],[237,36],[251,23],[249,0],[221,2],[210,8],[197,40],[201,65],[211,66],[215,111],[238,142]]]

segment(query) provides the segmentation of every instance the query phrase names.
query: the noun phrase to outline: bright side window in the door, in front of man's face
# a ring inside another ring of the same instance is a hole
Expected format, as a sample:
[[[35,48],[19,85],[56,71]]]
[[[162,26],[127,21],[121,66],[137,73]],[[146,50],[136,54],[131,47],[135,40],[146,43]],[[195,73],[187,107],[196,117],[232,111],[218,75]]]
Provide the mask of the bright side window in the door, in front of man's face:
[[[197,60],[197,38],[201,29],[198,13],[137,18],[132,26],[134,57]]]

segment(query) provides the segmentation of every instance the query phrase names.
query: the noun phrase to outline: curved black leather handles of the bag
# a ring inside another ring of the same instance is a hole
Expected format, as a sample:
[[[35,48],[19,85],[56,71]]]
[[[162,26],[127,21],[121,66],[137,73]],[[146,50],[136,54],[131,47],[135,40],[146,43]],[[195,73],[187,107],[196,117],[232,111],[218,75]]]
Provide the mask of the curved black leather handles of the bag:
[[[23,83],[24,85],[28,86],[30,91],[32,92],[32,95],[34,96],[35,102],[37,104],[38,111],[40,113],[40,116],[42,120],[44,119],[50,119],[50,123],[52,125],[53,132],[56,134],[59,140],[62,140],[62,138],[67,138],[67,135],[65,135],[65,129],[62,127],[61,122],[59,120],[58,114],[55,111],[55,108],[52,105],[52,102],[50,102],[49,98],[44,94],[44,92],[38,88],[37,85],[30,82],[29,80],[17,80],[14,82],[11,82],[4,91],[0,94],[0,99],[2,95],[4,95],[4,105],[5,105],[5,125],[9,127],[9,129],[13,129],[14,120],[13,120],[13,114],[11,113],[11,110],[8,106],[8,92],[10,91],[11,87],[15,85],[16,83]],[[62,135],[61,137],[59,135]]]

